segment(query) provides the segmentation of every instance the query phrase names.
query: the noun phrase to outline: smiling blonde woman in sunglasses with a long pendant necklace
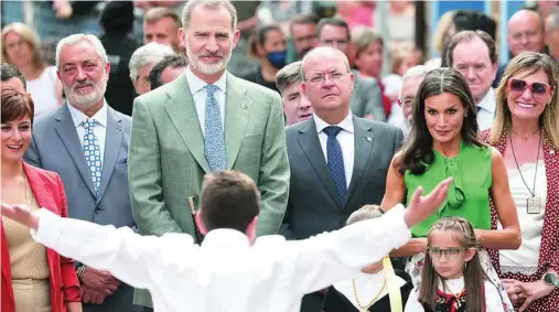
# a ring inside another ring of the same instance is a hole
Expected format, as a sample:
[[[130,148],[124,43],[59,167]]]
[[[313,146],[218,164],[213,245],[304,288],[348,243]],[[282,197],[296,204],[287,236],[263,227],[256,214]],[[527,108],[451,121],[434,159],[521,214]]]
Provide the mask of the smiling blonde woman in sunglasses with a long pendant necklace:
[[[496,90],[497,112],[481,140],[504,157],[520,223],[518,250],[490,250],[518,311],[559,305],[559,74],[545,54],[525,52],[508,63]],[[492,226],[499,228],[491,205]]]

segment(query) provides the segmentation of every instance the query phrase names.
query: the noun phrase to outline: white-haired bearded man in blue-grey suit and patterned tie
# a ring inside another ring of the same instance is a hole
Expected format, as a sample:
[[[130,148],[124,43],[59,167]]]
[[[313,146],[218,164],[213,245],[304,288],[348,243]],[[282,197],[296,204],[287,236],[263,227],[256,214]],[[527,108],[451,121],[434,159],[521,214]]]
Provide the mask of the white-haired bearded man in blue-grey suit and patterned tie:
[[[127,174],[131,120],[105,101],[110,73],[105,49],[94,35],[67,36],[56,47],[56,67],[67,101],[35,119],[25,161],[61,175],[69,217],[133,226]],[[132,304],[133,289],[109,272],[82,263],[76,270],[85,312],[141,311]]]

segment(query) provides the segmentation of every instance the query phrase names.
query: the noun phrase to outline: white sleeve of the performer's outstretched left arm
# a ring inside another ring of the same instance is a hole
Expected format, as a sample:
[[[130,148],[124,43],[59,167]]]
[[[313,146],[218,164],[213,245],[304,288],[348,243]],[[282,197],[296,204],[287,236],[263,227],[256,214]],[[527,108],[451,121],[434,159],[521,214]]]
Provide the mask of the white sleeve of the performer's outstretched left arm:
[[[185,254],[192,259],[197,248],[187,234],[140,236],[129,227],[63,218],[45,208],[35,214],[40,217],[39,229],[31,229],[31,236],[36,243],[88,267],[107,270],[135,288],[155,287],[154,279],[163,275],[162,270],[171,268],[176,259],[189,259]]]

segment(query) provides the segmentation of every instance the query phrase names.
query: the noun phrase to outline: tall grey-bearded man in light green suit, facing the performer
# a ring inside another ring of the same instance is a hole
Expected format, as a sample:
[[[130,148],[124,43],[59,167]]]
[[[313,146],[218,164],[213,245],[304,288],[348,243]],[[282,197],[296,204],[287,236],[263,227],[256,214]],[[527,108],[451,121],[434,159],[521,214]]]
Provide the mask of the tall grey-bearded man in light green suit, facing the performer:
[[[281,99],[225,71],[239,37],[236,20],[228,1],[187,1],[179,36],[189,67],[135,101],[128,163],[141,234],[194,235],[190,200],[200,202],[204,174],[217,170],[256,181],[257,235],[276,234],[281,225],[289,191]],[[135,303],[152,306],[144,291],[137,291]]]

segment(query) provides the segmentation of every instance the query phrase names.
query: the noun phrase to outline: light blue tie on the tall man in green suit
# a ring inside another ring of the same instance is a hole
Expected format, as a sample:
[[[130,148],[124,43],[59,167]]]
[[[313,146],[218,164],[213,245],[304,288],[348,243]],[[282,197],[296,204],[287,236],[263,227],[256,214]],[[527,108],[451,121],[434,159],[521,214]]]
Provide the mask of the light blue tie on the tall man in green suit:
[[[225,154],[225,133],[222,126],[219,104],[214,97],[217,86],[207,85],[206,88],[206,120],[204,125],[204,151],[211,171],[225,170],[227,157]]]

